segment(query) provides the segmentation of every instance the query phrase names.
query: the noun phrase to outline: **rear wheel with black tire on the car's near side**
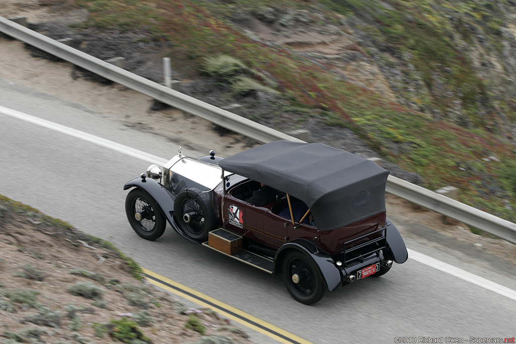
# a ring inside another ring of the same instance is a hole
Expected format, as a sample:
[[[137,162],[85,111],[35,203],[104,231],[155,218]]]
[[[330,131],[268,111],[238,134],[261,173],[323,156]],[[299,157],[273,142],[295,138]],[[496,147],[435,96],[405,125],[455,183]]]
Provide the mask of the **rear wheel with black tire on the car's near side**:
[[[294,300],[311,305],[322,299],[326,285],[322,281],[319,267],[307,254],[300,251],[288,252],[282,260],[283,283]],[[297,274],[299,282],[293,276]]]

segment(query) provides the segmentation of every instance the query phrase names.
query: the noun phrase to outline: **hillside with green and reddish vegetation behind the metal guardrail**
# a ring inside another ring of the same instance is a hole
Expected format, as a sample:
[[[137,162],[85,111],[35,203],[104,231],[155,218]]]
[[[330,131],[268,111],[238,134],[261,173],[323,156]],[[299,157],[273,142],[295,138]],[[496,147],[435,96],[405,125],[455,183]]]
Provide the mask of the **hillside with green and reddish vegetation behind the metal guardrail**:
[[[462,0],[39,0],[31,24],[183,92],[516,221],[516,4]],[[14,13],[14,9],[13,9]],[[23,14],[23,13],[17,13]],[[405,172],[404,172],[405,171]],[[410,171],[410,172],[406,172]]]

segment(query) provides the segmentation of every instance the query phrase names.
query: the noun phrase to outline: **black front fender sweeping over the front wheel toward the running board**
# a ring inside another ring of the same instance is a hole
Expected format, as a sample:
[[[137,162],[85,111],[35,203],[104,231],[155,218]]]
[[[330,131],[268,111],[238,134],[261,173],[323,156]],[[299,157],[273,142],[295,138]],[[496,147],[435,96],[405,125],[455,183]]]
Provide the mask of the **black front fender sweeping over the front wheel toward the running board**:
[[[174,200],[175,195],[168,191],[163,185],[159,184],[152,178],[135,178],[130,182],[125,183],[124,190],[137,187],[148,194],[156,201],[161,208],[163,215],[167,218],[170,225],[178,232],[183,238],[188,239],[192,242],[199,243],[195,240],[190,239],[186,234],[183,233],[178,224],[174,220]]]

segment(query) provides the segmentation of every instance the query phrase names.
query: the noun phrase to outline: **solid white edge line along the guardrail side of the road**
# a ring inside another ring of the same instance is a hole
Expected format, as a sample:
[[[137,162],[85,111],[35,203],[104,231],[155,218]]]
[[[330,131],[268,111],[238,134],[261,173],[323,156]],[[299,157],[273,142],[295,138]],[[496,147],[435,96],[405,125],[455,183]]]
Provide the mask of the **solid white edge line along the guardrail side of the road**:
[[[111,150],[126,154],[128,156],[132,156],[147,162],[156,163],[157,165],[163,166],[168,161],[167,159],[160,158],[156,155],[148,154],[146,152],[142,152],[126,145],[109,141],[103,139],[98,136],[94,136],[85,132],[81,132],[80,130],[72,129],[67,126],[57,124],[54,122],[50,122],[35,116],[31,116],[30,114],[26,114],[23,112],[19,112],[16,110],[12,110],[3,106],[0,106],[0,113],[4,113],[7,116],[11,116],[23,121],[27,121],[30,123],[34,123],[45,128],[49,128],[52,130],[56,130],[57,132],[67,134],[88,142],[92,142],[98,145],[103,146],[104,148],[109,148]],[[416,252],[411,249],[407,249],[409,252],[409,258],[418,261],[419,263],[425,264],[434,269],[446,272],[450,275],[456,276],[461,280],[473,283],[479,287],[486,288],[488,290],[494,291],[502,296],[505,296],[509,299],[516,301],[516,291],[504,287],[503,285],[497,284],[495,282],[489,281],[483,277],[477,276],[471,272],[467,272],[465,270],[459,269],[453,265],[444,263],[443,261],[437,260],[435,258],[429,257],[423,253]]]

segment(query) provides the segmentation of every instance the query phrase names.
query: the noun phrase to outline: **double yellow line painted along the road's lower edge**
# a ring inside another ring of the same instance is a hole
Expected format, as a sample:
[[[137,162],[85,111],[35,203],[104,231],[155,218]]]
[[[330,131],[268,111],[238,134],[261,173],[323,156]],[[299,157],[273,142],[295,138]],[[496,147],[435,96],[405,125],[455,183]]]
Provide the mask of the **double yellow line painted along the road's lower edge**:
[[[280,329],[278,326],[272,325],[266,321],[247,314],[240,309],[232,307],[228,304],[211,298],[197,290],[188,288],[178,282],[167,279],[167,277],[158,275],[147,269],[143,269],[146,274],[147,281],[155,286],[170,291],[189,301],[195,302],[206,308],[210,308],[224,317],[234,320],[252,330],[260,332],[272,339],[285,344],[312,344],[310,341],[300,338],[292,333]]]

